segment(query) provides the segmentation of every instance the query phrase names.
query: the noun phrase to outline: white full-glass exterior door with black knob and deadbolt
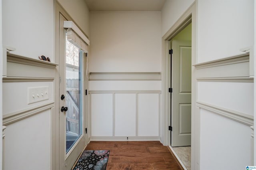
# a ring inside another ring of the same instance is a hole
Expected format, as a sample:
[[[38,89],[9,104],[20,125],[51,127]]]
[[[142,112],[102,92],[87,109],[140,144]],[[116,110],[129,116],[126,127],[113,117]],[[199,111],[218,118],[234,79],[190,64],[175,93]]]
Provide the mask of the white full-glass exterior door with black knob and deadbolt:
[[[59,150],[60,170],[70,170],[86,146],[85,132],[85,84],[86,55],[80,48],[66,39],[60,14],[60,55],[59,55]]]

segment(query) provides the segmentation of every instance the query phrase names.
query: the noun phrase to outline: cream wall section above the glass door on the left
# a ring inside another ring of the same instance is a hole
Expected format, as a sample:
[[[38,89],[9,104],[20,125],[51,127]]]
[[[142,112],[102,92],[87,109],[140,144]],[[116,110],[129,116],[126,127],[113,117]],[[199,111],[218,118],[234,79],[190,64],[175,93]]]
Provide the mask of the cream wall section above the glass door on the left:
[[[84,0],[58,0],[61,6],[68,12],[71,18],[76,22],[76,24],[80,27],[80,29],[86,34],[86,36],[90,36],[89,30],[89,9]],[[90,40],[90,38],[89,38]]]

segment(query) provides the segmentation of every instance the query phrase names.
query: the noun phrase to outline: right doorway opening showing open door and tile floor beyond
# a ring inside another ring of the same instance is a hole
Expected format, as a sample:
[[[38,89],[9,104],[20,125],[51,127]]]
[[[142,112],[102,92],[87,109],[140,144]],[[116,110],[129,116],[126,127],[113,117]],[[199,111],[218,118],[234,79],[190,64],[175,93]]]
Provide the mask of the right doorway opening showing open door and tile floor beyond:
[[[186,169],[191,168],[191,44],[191,22],[169,40],[170,148]]]

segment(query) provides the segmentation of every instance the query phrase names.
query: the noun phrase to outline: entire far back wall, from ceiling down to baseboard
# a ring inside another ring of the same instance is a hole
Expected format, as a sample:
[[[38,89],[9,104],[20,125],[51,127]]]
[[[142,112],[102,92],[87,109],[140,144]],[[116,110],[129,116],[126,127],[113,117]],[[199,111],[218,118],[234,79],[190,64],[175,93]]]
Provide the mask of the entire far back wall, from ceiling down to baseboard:
[[[160,140],[161,13],[93,11],[90,31],[91,140]]]

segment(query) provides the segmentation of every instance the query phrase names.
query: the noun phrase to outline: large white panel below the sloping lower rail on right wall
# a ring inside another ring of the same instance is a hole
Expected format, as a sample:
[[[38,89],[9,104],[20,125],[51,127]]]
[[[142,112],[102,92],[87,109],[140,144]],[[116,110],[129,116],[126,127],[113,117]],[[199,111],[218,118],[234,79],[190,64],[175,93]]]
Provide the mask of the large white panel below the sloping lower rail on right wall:
[[[253,149],[250,136],[252,130],[248,125],[204,109],[200,109],[200,119],[203,120],[200,123],[200,148],[203,148],[200,150],[201,167],[208,169],[210,166],[212,170],[223,168],[242,170],[245,166],[252,165],[250,158]]]

